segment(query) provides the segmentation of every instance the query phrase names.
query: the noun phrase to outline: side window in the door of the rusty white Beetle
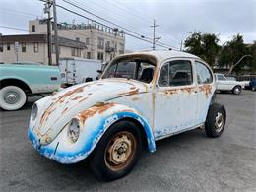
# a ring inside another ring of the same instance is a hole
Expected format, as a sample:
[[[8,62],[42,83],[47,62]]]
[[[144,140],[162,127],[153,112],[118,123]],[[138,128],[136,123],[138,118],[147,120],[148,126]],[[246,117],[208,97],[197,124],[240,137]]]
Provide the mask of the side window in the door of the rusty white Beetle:
[[[188,60],[170,61],[162,66],[159,86],[186,86],[193,83],[192,66]]]

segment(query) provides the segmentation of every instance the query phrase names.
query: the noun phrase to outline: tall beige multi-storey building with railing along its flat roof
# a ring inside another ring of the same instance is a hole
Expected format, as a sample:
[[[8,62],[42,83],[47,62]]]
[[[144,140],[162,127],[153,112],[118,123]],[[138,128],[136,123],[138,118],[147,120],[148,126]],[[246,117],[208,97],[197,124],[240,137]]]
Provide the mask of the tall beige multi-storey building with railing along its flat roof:
[[[54,26],[51,25],[52,33]],[[30,34],[47,32],[46,20],[29,21]],[[81,51],[81,56],[87,59],[109,61],[113,57],[124,53],[124,32],[109,29],[94,23],[91,24],[58,24],[58,35],[86,44],[87,49]]]

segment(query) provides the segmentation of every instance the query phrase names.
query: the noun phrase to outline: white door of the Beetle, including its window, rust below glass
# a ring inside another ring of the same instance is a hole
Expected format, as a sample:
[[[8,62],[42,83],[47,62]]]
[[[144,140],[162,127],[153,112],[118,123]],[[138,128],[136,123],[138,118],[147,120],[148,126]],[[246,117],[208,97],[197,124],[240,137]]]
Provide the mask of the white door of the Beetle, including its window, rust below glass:
[[[167,137],[196,124],[198,88],[193,61],[166,61],[159,74],[155,92],[154,134]]]

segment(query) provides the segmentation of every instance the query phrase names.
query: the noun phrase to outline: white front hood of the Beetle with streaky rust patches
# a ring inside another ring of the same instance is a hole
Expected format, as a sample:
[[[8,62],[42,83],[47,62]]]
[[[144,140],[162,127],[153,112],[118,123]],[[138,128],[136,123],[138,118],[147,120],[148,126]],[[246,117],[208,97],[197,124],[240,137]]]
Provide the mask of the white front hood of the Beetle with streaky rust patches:
[[[64,89],[49,96],[38,109],[34,131],[41,144],[47,144],[73,117],[97,102],[147,91],[147,84],[125,79],[104,79]]]

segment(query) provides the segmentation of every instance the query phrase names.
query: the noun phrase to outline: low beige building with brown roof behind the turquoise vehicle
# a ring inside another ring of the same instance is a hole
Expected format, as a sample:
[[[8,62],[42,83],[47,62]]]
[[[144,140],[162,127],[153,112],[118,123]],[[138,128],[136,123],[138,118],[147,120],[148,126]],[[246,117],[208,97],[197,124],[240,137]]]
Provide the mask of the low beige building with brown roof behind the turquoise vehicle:
[[[52,63],[56,63],[54,36],[52,39]],[[83,42],[59,38],[60,57],[81,57],[87,49]],[[46,34],[23,34],[0,36],[0,63],[36,62],[48,64]]]

